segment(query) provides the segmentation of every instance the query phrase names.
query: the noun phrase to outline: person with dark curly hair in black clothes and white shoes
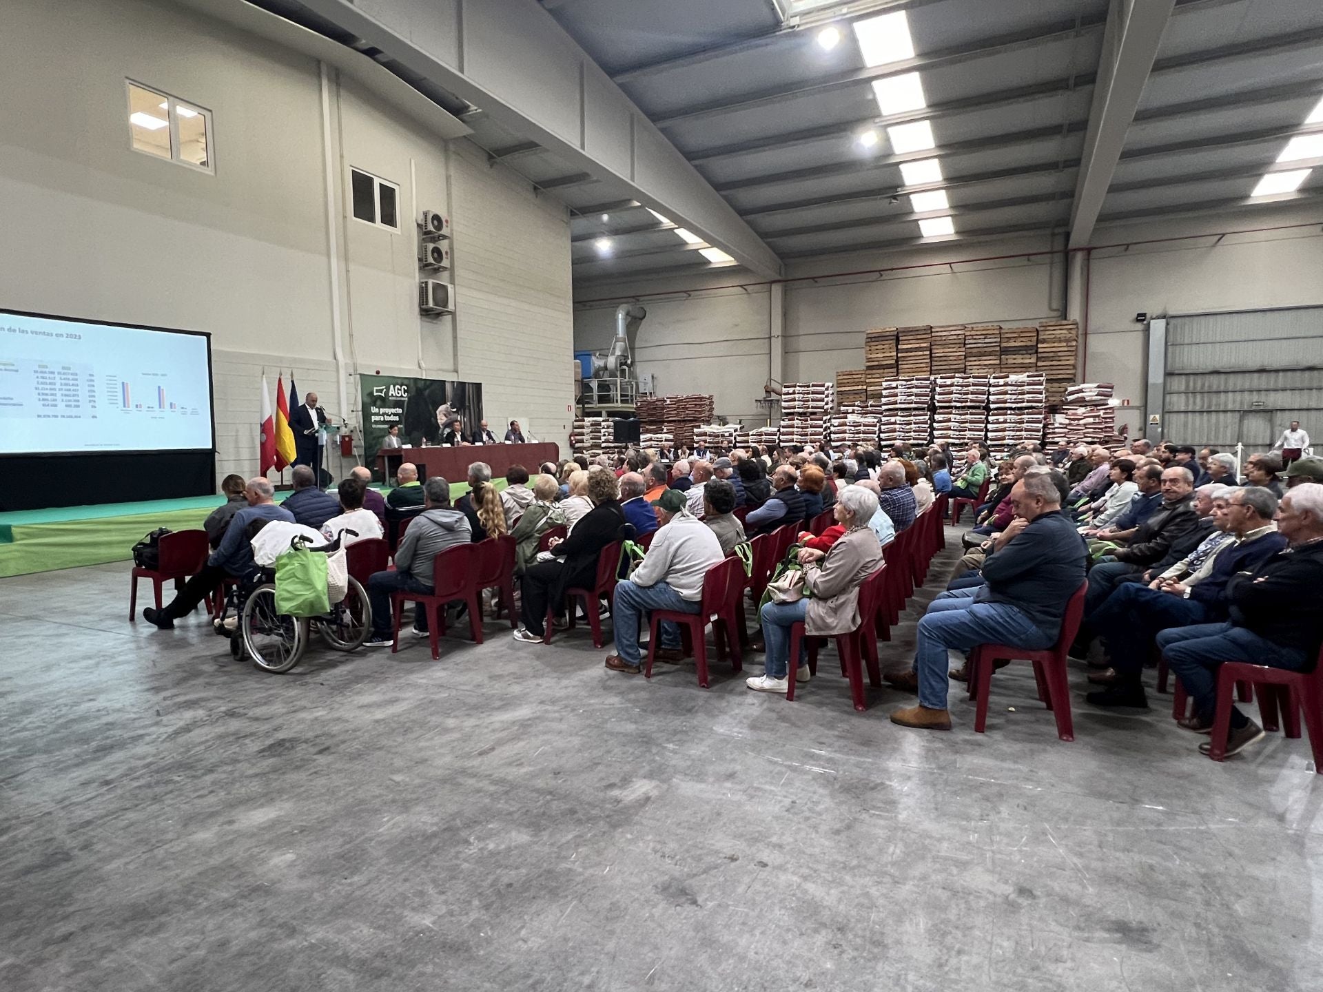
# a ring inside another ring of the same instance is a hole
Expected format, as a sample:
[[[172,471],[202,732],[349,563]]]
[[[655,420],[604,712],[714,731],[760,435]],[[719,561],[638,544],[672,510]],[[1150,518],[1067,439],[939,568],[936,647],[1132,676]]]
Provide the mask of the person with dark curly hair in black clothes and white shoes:
[[[542,643],[548,606],[553,607],[560,619],[565,610],[565,590],[590,589],[597,577],[597,559],[602,549],[620,540],[624,513],[620,512],[615,476],[609,471],[585,475],[585,499],[591,501],[593,509],[574,524],[569,537],[552,540],[546,561],[537,561],[524,571],[524,602],[520,610],[523,626],[515,631],[515,640],[520,643]],[[565,503],[569,500],[561,503],[562,509]],[[590,603],[589,608],[597,608],[597,604]]]

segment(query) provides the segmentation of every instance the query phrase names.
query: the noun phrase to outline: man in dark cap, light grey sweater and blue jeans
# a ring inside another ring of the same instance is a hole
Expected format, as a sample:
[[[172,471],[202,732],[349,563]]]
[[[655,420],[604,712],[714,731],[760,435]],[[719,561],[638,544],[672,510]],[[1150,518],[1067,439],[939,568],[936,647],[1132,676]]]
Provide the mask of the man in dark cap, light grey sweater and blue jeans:
[[[695,517],[683,492],[667,489],[654,504],[662,526],[658,529],[634,574],[618,583],[611,603],[615,653],[606,667],[613,672],[638,675],[643,671],[639,649],[639,623],[652,610],[697,614],[703,606],[703,579],[708,569],[721,562],[721,542]],[[662,647],[654,659],[679,661],[680,628],[662,624]]]

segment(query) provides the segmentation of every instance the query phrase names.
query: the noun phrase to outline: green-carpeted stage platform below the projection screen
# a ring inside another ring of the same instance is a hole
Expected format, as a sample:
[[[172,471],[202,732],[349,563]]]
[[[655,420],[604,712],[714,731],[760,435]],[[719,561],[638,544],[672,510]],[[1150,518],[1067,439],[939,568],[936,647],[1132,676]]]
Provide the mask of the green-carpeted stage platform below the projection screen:
[[[504,489],[505,480],[497,480],[496,485]],[[467,483],[450,487],[451,499],[466,492]],[[278,492],[277,503],[288,495]],[[201,528],[206,515],[224,501],[221,496],[192,496],[0,513],[0,578],[130,561],[143,534],[159,526],[171,530]]]

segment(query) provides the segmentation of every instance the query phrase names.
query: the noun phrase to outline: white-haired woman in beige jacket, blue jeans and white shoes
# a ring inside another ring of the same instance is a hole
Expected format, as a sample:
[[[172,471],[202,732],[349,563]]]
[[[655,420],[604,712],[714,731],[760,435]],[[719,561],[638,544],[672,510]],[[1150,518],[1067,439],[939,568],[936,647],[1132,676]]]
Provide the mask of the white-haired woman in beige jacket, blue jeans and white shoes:
[[[832,516],[845,533],[827,550],[804,548],[808,598],[792,603],[767,603],[758,611],[767,645],[763,675],[746,680],[755,692],[786,692],[790,682],[790,627],[803,622],[808,638],[833,638],[859,627],[859,587],[882,563],[882,549],[868,522],[877,513],[877,496],[863,485],[847,485]],[[795,681],[808,681],[808,649],[800,643]]]

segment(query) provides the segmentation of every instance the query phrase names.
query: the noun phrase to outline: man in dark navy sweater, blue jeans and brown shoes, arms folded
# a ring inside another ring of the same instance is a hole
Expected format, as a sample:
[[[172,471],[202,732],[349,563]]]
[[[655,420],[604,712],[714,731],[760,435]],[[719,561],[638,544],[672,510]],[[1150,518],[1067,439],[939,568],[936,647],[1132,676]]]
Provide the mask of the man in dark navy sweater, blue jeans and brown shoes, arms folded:
[[[946,709],[949,649],[1015,644],[1039,651],[1061,632],[1066,603],[1085,577],[1084,538],[1061,512],[1050,470],[1031,470],[1011,491],[1015,518],[983,562],[986,583],[942,593],[918,624],[914,672],[890,680],[918,689],[918,705],[896,710],[901,726],[950,730]]]

